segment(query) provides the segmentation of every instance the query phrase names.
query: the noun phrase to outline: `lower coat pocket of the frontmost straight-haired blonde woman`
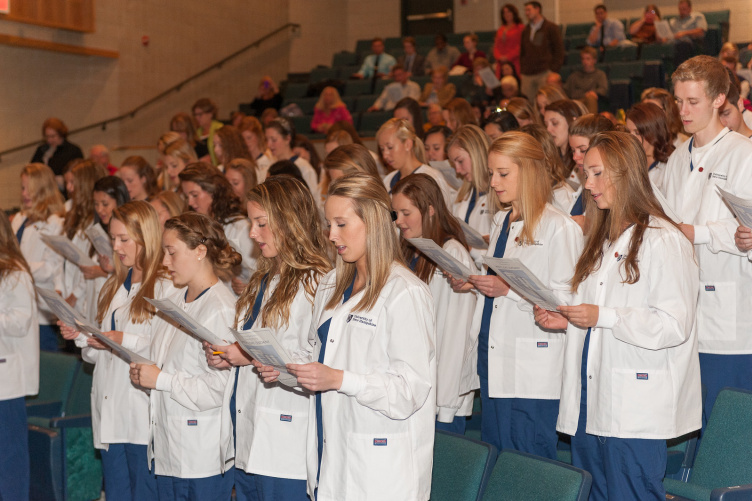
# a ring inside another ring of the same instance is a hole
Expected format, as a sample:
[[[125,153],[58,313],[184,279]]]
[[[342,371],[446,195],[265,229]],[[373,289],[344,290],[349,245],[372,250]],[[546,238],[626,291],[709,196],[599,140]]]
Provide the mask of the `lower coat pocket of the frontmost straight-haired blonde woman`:
[[[347,499],[415,499],[417,475],[407,433],[350,433]]]

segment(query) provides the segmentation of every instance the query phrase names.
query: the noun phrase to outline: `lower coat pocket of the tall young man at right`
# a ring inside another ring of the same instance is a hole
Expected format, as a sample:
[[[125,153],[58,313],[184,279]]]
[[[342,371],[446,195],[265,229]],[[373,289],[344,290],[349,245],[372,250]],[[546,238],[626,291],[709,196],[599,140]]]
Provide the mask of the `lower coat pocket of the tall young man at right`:
[[[734,341],[736,339],[736,283],[700,284],[697,332],[703,339]]]

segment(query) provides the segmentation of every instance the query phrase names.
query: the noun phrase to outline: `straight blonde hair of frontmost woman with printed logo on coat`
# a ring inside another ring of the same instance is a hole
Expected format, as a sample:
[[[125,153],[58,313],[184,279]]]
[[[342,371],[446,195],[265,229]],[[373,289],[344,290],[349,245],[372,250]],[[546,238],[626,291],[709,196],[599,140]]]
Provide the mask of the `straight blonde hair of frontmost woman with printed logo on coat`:
[[[403,120],[404,121],[404,120]],[[366,286],[363,297],[353,311],[368,311],[376,304],[381,290],[389,280],[392,264],[405,266],[397,228],[392,220],[392,207],[384,184],[368,174],[353,174],[329,185],[329,197],[346,198],[366,227]],[[342,295],[355,278],[355,263],[337,256],[337,282],[327,309],[336,308]]]

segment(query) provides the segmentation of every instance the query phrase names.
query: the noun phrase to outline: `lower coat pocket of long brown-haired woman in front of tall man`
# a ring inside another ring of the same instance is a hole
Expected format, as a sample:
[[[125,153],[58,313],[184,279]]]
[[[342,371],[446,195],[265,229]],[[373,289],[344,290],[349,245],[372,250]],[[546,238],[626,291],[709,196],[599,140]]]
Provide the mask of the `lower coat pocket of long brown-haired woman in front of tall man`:
[[[670,423],[673,415],[673,390],[669,371],[657,369],[613,369],[612,431],[616,436],[662,436],[670,430],[658,423]]]

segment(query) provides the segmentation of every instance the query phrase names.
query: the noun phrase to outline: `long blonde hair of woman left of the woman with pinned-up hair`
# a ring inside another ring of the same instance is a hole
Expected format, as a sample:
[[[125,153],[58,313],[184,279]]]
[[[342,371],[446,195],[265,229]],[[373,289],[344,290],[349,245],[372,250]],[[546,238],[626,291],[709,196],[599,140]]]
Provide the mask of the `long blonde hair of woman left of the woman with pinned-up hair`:
[[[141,270],[141,287],[131,301],[130,318],[132,322],[141,324],[151,319],[155,313],[154,307],[145,298],[153,298],[157,280],[167,277],[162,266],[162,232],[159,217],[149,202],[135,200],[115,208],[112,211],[112,219],[123,223],[128,236],[139,248],[134,267]],[[115,273],[105,282],[97,302],[97,322],[100,324],[112,299],[128,276],[128,269],[119,259],[114,259],[113,264]]]

